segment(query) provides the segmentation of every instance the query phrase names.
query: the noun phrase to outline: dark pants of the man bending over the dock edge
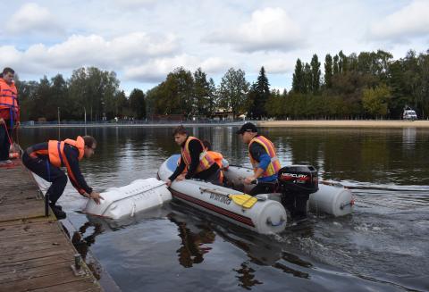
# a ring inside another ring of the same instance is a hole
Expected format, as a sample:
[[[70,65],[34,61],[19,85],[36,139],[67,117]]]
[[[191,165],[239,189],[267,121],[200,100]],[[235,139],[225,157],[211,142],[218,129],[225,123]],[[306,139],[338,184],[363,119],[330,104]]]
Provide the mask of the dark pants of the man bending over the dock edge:
[[[49,195],[49,201],[51,201],[52,204],[55,204],[60,196],[63,195],[65,185],[67,185],[67,176],[64,171],[49,163],[47,157],[45,158],[42,156],[31,158],[26,152],[22,154],[22,163],[24,163],[30,171],[36,173],[40,178],[52,182],[51,187],[47,189],[46,194]]]

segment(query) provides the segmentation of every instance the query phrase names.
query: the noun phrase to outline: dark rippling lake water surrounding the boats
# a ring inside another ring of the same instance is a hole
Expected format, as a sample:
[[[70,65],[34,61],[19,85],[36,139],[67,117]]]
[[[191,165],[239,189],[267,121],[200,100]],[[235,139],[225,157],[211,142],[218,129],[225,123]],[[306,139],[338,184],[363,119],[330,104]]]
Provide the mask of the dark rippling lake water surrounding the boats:
[[[195,127],[231,164],[247,165],[234,127]],[[179,152],[172,128],[95,128],[96,154],[81,169],[96,190],[156,177]],[[61,129],[61,138],[84,129]],[[122,291],[428,291],[428,129],[261,129],[282,165],[312,164],[322,179],[352,189],[351,216],[313,214],[279,235],[261,236],[172,202],[120,222],[79,213],[66,188],[60,203]],[[58,129],[21,129],[26,147],[58,138]],[[72,231],[71,231],[72,232]],[[77,235],[85,242],[77,239]],[[100,267],[88,258],[90,265]]]

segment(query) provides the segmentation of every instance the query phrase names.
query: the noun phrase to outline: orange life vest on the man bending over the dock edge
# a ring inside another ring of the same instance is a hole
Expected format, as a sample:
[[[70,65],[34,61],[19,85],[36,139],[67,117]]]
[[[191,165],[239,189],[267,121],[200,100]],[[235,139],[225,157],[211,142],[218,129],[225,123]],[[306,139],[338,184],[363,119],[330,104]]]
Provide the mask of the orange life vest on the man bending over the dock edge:
[[[49,140],[47,144],[47,153],[49,154],[49,162],[56,166],[68,166],[67,158],[64,155],[64,145],[69,144],[75,146],[79,150],[78,160],[82,160],[85,148],[85,141],[83,138],[78,136],[76,140],[65,139],[64,141]]]

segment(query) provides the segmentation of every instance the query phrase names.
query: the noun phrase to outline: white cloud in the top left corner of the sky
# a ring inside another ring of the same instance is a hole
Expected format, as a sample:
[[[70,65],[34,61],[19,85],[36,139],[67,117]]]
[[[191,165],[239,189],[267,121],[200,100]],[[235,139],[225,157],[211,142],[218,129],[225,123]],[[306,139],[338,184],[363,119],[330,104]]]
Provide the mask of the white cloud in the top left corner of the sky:
[[[9,21],[4,22],[6,31],[13,34],[32,32],[49,34],[63,30],[48,9],[35,3],[22,5]]]

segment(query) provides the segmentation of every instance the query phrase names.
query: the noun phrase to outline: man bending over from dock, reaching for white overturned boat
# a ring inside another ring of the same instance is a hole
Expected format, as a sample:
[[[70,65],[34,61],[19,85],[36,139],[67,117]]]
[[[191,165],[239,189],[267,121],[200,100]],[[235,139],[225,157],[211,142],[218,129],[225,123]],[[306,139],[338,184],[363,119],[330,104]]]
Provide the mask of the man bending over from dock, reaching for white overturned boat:
[[[56,201],[63,195],[65,185],[67,185],[67,177],[64,171],[60,169],[62,166],[67,168],[71,184],[80,195],[93,199],[97,204],[100,204],[100,199],[104,200],[100,194],[88,187],[79,167],[80,160],[83,157],[91,157],[96,146],[95,138],[78,136],[76,140],[49,140],[49,142],[29,146],[22,154],[22,163],[30,171],[42,179],[52,182],[46,194],[49,194],[49,205],[58,219],[66,217],[63,208],[56,204]]]

